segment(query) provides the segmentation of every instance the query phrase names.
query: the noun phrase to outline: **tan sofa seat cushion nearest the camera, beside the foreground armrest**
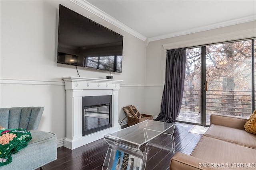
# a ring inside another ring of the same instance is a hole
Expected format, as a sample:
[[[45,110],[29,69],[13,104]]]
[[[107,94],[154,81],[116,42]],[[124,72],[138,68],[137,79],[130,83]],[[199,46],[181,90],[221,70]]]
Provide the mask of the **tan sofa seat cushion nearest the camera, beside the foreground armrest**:
[[[216,166],[218,164],[223,164],[225,168],[236,170],[255,170],[255,149],[236,145],[212,137],[202,136],[191,156],[206,160],[207,162],[212,162],[216,164]]]

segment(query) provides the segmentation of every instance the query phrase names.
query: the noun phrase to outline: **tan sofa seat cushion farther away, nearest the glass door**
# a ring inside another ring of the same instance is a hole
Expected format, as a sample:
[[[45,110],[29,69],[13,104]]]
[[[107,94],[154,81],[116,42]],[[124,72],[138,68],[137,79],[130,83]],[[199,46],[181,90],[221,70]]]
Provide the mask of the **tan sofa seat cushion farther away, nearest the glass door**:
[[[256,135],[245,130],[212,124],[204,136],[256,149]]]

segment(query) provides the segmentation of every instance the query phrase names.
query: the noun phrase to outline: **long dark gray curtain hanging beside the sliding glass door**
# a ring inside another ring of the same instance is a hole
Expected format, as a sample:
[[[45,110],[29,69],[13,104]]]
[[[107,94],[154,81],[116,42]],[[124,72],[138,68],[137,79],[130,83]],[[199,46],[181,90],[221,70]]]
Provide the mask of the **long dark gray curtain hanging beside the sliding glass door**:
[[[186,49],[168,50],[161,112],[156,121],[175,123],[180,113],[184,89]]]

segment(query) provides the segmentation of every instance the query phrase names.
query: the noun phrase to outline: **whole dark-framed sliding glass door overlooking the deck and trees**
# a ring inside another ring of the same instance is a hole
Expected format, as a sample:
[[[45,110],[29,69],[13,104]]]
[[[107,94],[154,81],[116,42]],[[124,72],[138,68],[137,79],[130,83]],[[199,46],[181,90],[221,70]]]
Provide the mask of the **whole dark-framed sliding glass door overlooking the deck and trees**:
[[[211,114],[251,115],[255,108],[254,43],[246,40],[186,50],[183,103],[177,121],[210,125]]]

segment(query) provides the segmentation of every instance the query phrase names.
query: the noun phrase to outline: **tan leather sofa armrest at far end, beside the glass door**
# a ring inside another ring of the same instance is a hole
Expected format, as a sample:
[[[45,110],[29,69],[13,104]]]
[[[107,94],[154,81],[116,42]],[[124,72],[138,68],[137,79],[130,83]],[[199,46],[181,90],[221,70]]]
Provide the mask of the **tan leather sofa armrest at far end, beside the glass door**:
[[[248,118],[230,116],[230,115],[211,115],[210,124],[222,125],[226,127],[232,127],[236,129],[244,130],[244,124]]]

